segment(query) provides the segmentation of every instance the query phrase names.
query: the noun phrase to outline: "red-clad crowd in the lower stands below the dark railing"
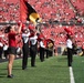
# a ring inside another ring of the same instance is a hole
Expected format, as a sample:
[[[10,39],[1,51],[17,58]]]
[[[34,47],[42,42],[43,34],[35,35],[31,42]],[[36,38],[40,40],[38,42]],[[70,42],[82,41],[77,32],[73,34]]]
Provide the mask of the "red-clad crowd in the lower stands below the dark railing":
[[[4,28],[3,28],[4,27]],[[62,25],[51,25],[42,27],[41,32],[43,33],[45,39],[51,39],[54,41],[54,48],[55,50],[57,46],[65,46],[66,42],[66,32],[64,31],[64,28],[71,28],[71,27],[62,27]],[[82,46],[84,43],[84,27],[72,27],[74,32],[74,38],[76,41],[77,46]],[[2,29],[0,30],[0,48],[8,45],[8,34],[4,33],[6,25],[2,25]],[[15,37],[17,39],[17,48],[18,51],[22,49],[22,37],[21,34]],[[4,50],[7,46],[4,48]],[[0,52],[1,53],[1,52]]]

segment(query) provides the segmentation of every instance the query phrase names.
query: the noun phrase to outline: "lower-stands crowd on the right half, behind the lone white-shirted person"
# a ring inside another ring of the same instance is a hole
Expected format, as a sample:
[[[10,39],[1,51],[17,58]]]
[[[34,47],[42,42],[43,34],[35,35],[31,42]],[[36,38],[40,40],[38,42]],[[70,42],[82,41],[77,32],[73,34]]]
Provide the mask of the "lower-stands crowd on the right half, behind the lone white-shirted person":
[[[55,41],[56,45],[65,45],[65,27],[62,25],[54,25],[54,28],[44,28],[43,33],[46,35],[46,38],[52,38]],[[81,46],[84,42],[84,27],[67,27],[72,28],[74,32],[75,41],[77,42],[77,45]]]

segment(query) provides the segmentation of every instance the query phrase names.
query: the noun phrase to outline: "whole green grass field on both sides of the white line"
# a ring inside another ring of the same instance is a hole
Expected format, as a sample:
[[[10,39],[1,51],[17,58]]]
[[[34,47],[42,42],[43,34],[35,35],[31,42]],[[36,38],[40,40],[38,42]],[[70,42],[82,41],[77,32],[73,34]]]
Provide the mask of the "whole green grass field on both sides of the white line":
[[[31,68],[30,58],[28,69],[22,70],[22,60],[13,64],[13,79],[7,77],[7,63],[0,63],[0,83],[70,83],[70,70],[65,55],[52,56],[40,62],[36,58],[36,68]],[[75,83],[84,83],[84,56],[74,56],[73,71]]]

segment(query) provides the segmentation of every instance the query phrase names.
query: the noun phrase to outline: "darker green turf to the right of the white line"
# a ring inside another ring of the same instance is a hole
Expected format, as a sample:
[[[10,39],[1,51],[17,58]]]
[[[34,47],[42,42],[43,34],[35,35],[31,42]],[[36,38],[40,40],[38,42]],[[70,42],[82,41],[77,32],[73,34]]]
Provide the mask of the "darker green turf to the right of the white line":
[[[84,56],[74,56],[73,59],[75,83],[84,83]]]

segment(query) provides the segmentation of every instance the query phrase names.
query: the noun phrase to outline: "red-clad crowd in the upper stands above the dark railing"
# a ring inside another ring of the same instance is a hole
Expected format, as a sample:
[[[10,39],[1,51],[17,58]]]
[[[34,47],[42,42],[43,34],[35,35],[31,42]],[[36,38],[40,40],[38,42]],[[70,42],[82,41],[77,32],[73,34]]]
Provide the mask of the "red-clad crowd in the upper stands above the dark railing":
[[[52,2],[51,2],[52,1]],[[36,10],[43,22],[49,20],[66,21],[75,18],[75,12],[66,0],[28,0]],[[84,2],[73,1],[80,14],[84,14]],[[0,0],[0,22],[20,20],[20,0]],[[82,19],[83,20],[83,19]]]

